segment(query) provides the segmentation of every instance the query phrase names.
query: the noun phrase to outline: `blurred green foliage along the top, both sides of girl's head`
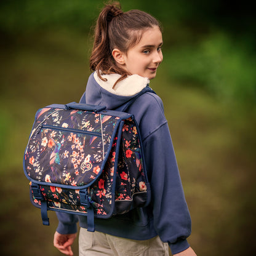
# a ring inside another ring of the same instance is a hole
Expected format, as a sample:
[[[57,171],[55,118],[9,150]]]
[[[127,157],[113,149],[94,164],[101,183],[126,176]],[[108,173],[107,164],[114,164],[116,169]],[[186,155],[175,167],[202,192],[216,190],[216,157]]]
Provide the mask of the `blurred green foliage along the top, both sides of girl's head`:
[[[14,38],[15,34],[63,28],[88,34],[103,2],[3,0],[0,2],[0,31],[14,35]],[[247,6],[238,8],[234,5],[231,12],[222,1],[120,2],[124,11],[145,10],[162,22],[164,61],[172,81],[201,86],[224,102],[255,105],[255,35],[250,29],[255,23],[250,19]],[[226,18],[218,15],[221,13]],[[242,21],[236,17],[241,17]],[[243,30],[242,25],[246,29]],[[237,31],[239,37],[235,34]]]

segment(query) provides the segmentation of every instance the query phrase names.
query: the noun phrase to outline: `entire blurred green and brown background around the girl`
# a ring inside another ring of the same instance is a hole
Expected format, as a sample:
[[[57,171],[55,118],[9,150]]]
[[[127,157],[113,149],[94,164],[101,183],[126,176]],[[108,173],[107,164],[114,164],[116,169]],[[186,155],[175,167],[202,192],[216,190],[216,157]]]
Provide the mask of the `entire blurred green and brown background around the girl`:
[[[256,22],[249,2],[121,1],[164,26],[162,98],[198,255],[255,254]],[[0,2],[1,255],[62,255],[28,196],[23,152],[38,108],[79,101],[100,0]],[[74,244],[78,255],[78,241]]]

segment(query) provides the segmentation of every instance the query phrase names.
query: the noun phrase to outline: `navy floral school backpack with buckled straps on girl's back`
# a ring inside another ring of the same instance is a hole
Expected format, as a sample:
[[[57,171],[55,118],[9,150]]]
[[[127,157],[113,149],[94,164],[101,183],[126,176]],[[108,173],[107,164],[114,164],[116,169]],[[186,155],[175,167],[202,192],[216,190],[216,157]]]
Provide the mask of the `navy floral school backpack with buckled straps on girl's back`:
[[[144,92],[150,90],[146,87]],[[123,110],[135,101],[132,98]],[[30,199],[47,210],[94,218],[124,214],[150,202],[142,141],[132,114],[82,103],[54,104],[36,112],[23,169]]]

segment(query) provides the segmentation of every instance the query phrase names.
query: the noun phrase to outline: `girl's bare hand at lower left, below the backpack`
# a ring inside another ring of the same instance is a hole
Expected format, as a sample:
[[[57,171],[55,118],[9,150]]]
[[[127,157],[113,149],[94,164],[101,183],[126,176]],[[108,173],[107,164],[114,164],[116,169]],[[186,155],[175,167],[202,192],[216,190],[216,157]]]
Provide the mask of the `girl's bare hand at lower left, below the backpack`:
[[[75,234],[60,234],[57,231],[54,234],[54,246],[63,254],[73,256],[73,251],[71,245],[76,239]]]

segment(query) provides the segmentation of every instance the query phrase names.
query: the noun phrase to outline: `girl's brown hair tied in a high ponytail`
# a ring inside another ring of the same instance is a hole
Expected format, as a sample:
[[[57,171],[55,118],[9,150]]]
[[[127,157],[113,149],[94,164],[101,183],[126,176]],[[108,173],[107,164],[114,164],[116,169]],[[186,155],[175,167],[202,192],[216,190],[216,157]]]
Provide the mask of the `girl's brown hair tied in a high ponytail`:
[[[127,52],[140,41],[142,32],[153,26],[158,26],[161,30],[158,20],[142,10],[122,12],[119,2],[106,4],[95,26],[90,70],[96,71],[103,81],[106,79],[101,74],[121,74],[116,83],[126,78],[128,73],[116,64],[112,56],[113,49]]]

